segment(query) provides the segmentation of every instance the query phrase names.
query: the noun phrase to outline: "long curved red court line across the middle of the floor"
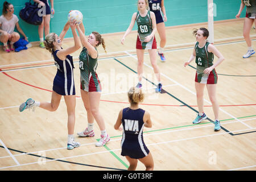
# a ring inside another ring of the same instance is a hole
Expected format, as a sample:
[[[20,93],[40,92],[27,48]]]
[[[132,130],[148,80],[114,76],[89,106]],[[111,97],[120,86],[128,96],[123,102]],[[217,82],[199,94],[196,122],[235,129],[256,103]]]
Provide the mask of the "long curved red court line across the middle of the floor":
[[[0,71],[2,71],[2,69],[0,68]],[[31,85],[31,84],[27,84],[26,82],[23,82],[23,81],[20,81],[10,75],[8,75],[7,73],[5,72],[2,72],[4,75],[12,78],[13,80],[15,81],[18,81],[18,82],[21,82],[22,84],[25,84],[25,85],[28,85],[28,86],[32,86],[34,88],[37,88],[37,89],[41,89],[41,90],[46,90],[48,92],[52,92],[52,90],[48,90],[48,89],[44,89],[44,88],[40,88],[38,86],[35,86],[35,85]],[[81,96],[76,96],[77,98],[81,98]],[[101,100],[101,101],[104,101],[104,102],[113,102],[113,103],[119,103],[119,104],[130,104],[129,102],[120,102],[120,101],[108,101],[108,100]],[[141,104],[141,105],[149,105],[149,106],[185,106],[185,105],[164,105],[164,104]],[[231,107],[231,106],[255,106],[256,104],[240,104],[240,105],[219,105],[220,107]],[[197,107],[197,106],[191,106],[191,107]],[[208,106],[204,106],[204,107],[212,107],[211,105],[208,105]]]

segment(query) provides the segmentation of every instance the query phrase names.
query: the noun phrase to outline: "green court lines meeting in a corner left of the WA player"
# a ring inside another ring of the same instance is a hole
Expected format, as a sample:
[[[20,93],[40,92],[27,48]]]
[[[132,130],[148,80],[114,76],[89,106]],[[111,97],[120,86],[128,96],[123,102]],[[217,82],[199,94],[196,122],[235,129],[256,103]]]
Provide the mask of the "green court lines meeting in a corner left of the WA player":
[[[249,118],[249,117],[255,117],[256,115],[247,115],[247,116],[244,116],[244,117],[239,117],[237,119],[242,119],[242,118]],[[220,120],[220,121],[230,121],[230,120],[234,120],[235,118],[231,118],[231,119],[223,119],[223,120]],[[205,122],[205,123],[198,123],[196,125],[204,125],[204,124],[208,124],[208,123],[212,123],[212,122]],[[151,133],[151,132],[155,132],[155,131],[163,131],[163,130],[171,130],[171,129],[178,129],[178,128],[181,128],[181,127],[188,127],[188,126],[196,126],[195,124],[193,125],[184,125],[184,126],[176,126],[176,127],[169,127],[169,128],[166,128],[166,129],[159,129],[159,130],[151,130],[151,131],[145,131],[143,133]],[[117,136],[113,136],[113,137],[110,137],[110,138],[117,138],[117,137],[122,137],[122,135],[117,135]],[[96,139],[97,141],[99,141],[100,139]],[[110,150],[110,148],[108,146],[104,146],[106,148],[106,150],[110,151],[110,154],[112,154],[117,160],[119,160],[119,162],[121,162],[123,164],[123,166],[125,166],[126,168],[129,168],[129,166],[123,162],[122,159],[120,159],[113,151]]]

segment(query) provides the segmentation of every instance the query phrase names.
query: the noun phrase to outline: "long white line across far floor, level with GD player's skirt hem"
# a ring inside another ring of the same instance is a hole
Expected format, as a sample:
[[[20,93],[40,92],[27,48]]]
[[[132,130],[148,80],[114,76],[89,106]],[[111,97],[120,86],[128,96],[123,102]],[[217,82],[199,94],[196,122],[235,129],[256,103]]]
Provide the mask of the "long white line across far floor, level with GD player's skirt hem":
[[[253,36],[256,36],[256,34],[255,35],[250,35],[250,37],[253,37]],[[237,37],[234,37],[234,38],[216,39],[214,41],[218,42],[218,41],[222,41],[222,40],[233,40],[233,39],[238,39],[238,38],[243,38],[243,36],[237,36]],[[242,42],[245,42],[245,41],[242,41]],[[165,47],[190,46],[191,44],[195,44],[195,42],[183,43],[183,44],[173,44],[173,45],[168,45],[168,46],[165,46]],[[132,52],[132,51],[136,51],[136,49],[127,50],[126,52]],[[124,51],[115,51],[115,52],[110,52],[110,53],[100,53],[99,55],[112,55],[114,53],[122,53],[122,52],[124,52]],[[73,59],[78,59],[78,58],[79,58],[79,56],[74,56],[73,57]],[[14,66],[14,65],[31,64],[31,63],[43,63],[43,62],[48,62],[48,61],[54,61],[54,60],[49,59],[49,60],[41,60],[41,61],[31,61],[31,62],[26,62],[26,63],[6,64],[6,65],[0,65],[0,68],[1,67],[10,67],[10,66]]]

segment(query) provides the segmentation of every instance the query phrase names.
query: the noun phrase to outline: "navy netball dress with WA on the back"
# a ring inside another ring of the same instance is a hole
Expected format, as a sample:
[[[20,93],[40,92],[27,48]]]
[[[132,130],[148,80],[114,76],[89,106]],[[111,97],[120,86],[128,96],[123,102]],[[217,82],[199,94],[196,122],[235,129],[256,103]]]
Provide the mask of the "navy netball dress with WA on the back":
[[[150,152],[143,140],[143,109],[123,109],[122,125],[123,137],[121,141],[122,156],[141,159]]]

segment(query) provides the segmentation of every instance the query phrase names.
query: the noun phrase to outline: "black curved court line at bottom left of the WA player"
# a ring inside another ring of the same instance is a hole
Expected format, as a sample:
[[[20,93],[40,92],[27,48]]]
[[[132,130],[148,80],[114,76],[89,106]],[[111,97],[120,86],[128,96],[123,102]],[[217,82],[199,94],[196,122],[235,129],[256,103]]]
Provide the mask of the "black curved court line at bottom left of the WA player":
[[[0,146],[2,148],[5,148],[3,146]],[[26,155],[31,155],[31,156],[36,156],[38,158],[45,158],[45,159],[49,159],[49,160],[55,160],[54,158],[48,158],[48,157],[45,157],[45,156],[40,156],[40,155],[35,155],[35,154],[27,154],[26,152],[23,152],[23,151],[19,151],[19,150],[15,150],[13,148],[8,148],[9,150],[11,151],[14,151],[14,152],[19,152],[19,153],[24,153]],[[113,169],[113,170],[118,170],[118,171],[127,171],[126,169],[118,169],[118,168],[112,168],[112,167],[104,167],[104,166],[95,166],[95,165],[90,165],[90,164],[82,164],[82,163],[75,163],[75,162],[70,162],[70,161],[67,161],[67,160],[55,160],[55,161],[59,161],[59,162],[64,162],[64,163],[69,163],[69,164],[77,164],[77,165],[81,165],[81,166],[88,166],[88,167],[96,167],[96,168],[104,168],[104,169]]]

